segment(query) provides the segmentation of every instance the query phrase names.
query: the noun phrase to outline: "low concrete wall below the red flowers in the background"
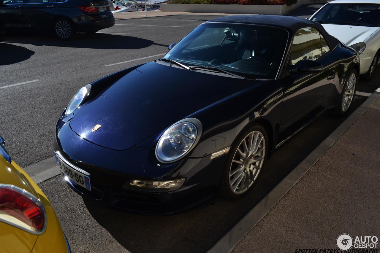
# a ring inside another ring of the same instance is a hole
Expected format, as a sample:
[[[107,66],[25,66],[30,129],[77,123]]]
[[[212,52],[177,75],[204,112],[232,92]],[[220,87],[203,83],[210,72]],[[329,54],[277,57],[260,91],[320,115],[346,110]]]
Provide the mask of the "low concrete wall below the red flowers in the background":
[[[300,5],[312,4],[315,0],[298,0],[296,4],[287,5],[194,5],[180,3],[161,3],[162,12],[195,12],[195,13],[236,13],[236,14],[266,14],[281,15]],[[317,1],[325,2],[325,1]]]

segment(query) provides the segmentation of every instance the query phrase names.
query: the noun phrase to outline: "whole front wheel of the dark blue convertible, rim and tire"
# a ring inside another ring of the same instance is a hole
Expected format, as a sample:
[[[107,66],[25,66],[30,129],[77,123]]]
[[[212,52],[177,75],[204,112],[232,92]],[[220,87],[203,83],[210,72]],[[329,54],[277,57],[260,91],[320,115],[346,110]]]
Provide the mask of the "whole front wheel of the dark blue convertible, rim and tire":
[[[223,196],[239,199],[253,188],[266,160],[267,145],[266,131],[258,124],[236,138],[222,172]]]

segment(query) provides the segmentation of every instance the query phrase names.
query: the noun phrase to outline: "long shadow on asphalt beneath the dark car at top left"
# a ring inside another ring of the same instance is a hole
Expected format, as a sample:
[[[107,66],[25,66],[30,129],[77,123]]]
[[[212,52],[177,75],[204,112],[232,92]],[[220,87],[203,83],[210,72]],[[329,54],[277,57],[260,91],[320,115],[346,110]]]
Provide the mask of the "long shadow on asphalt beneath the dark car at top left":
[[[162,46],[165,49],[169,45],[154,43],[152,40],[138,38],[134,35],[125,36],[109,33],[78,33],[70,41],[62,41],[49,33],[7,33],[6,43],[32,44],[35,46],[62,46],[89,49],[142,49],[152,45]]]

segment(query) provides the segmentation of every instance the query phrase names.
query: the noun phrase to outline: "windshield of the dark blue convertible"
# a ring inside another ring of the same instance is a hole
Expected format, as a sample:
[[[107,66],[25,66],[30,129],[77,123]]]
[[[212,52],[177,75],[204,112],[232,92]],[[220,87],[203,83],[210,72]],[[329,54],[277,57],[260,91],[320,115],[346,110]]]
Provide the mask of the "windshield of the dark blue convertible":
[[[209,66],[249,79],[274,79],[288,33],[260,25],[203,24],[163,58],[186,66]]]

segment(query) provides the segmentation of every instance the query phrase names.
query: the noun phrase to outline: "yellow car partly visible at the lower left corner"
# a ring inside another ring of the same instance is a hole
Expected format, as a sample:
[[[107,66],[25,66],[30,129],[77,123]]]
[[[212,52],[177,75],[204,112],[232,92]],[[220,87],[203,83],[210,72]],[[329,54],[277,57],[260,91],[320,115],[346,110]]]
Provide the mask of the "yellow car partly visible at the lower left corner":
[[[54,209],[0,136],[0,252],[70,252]]]

